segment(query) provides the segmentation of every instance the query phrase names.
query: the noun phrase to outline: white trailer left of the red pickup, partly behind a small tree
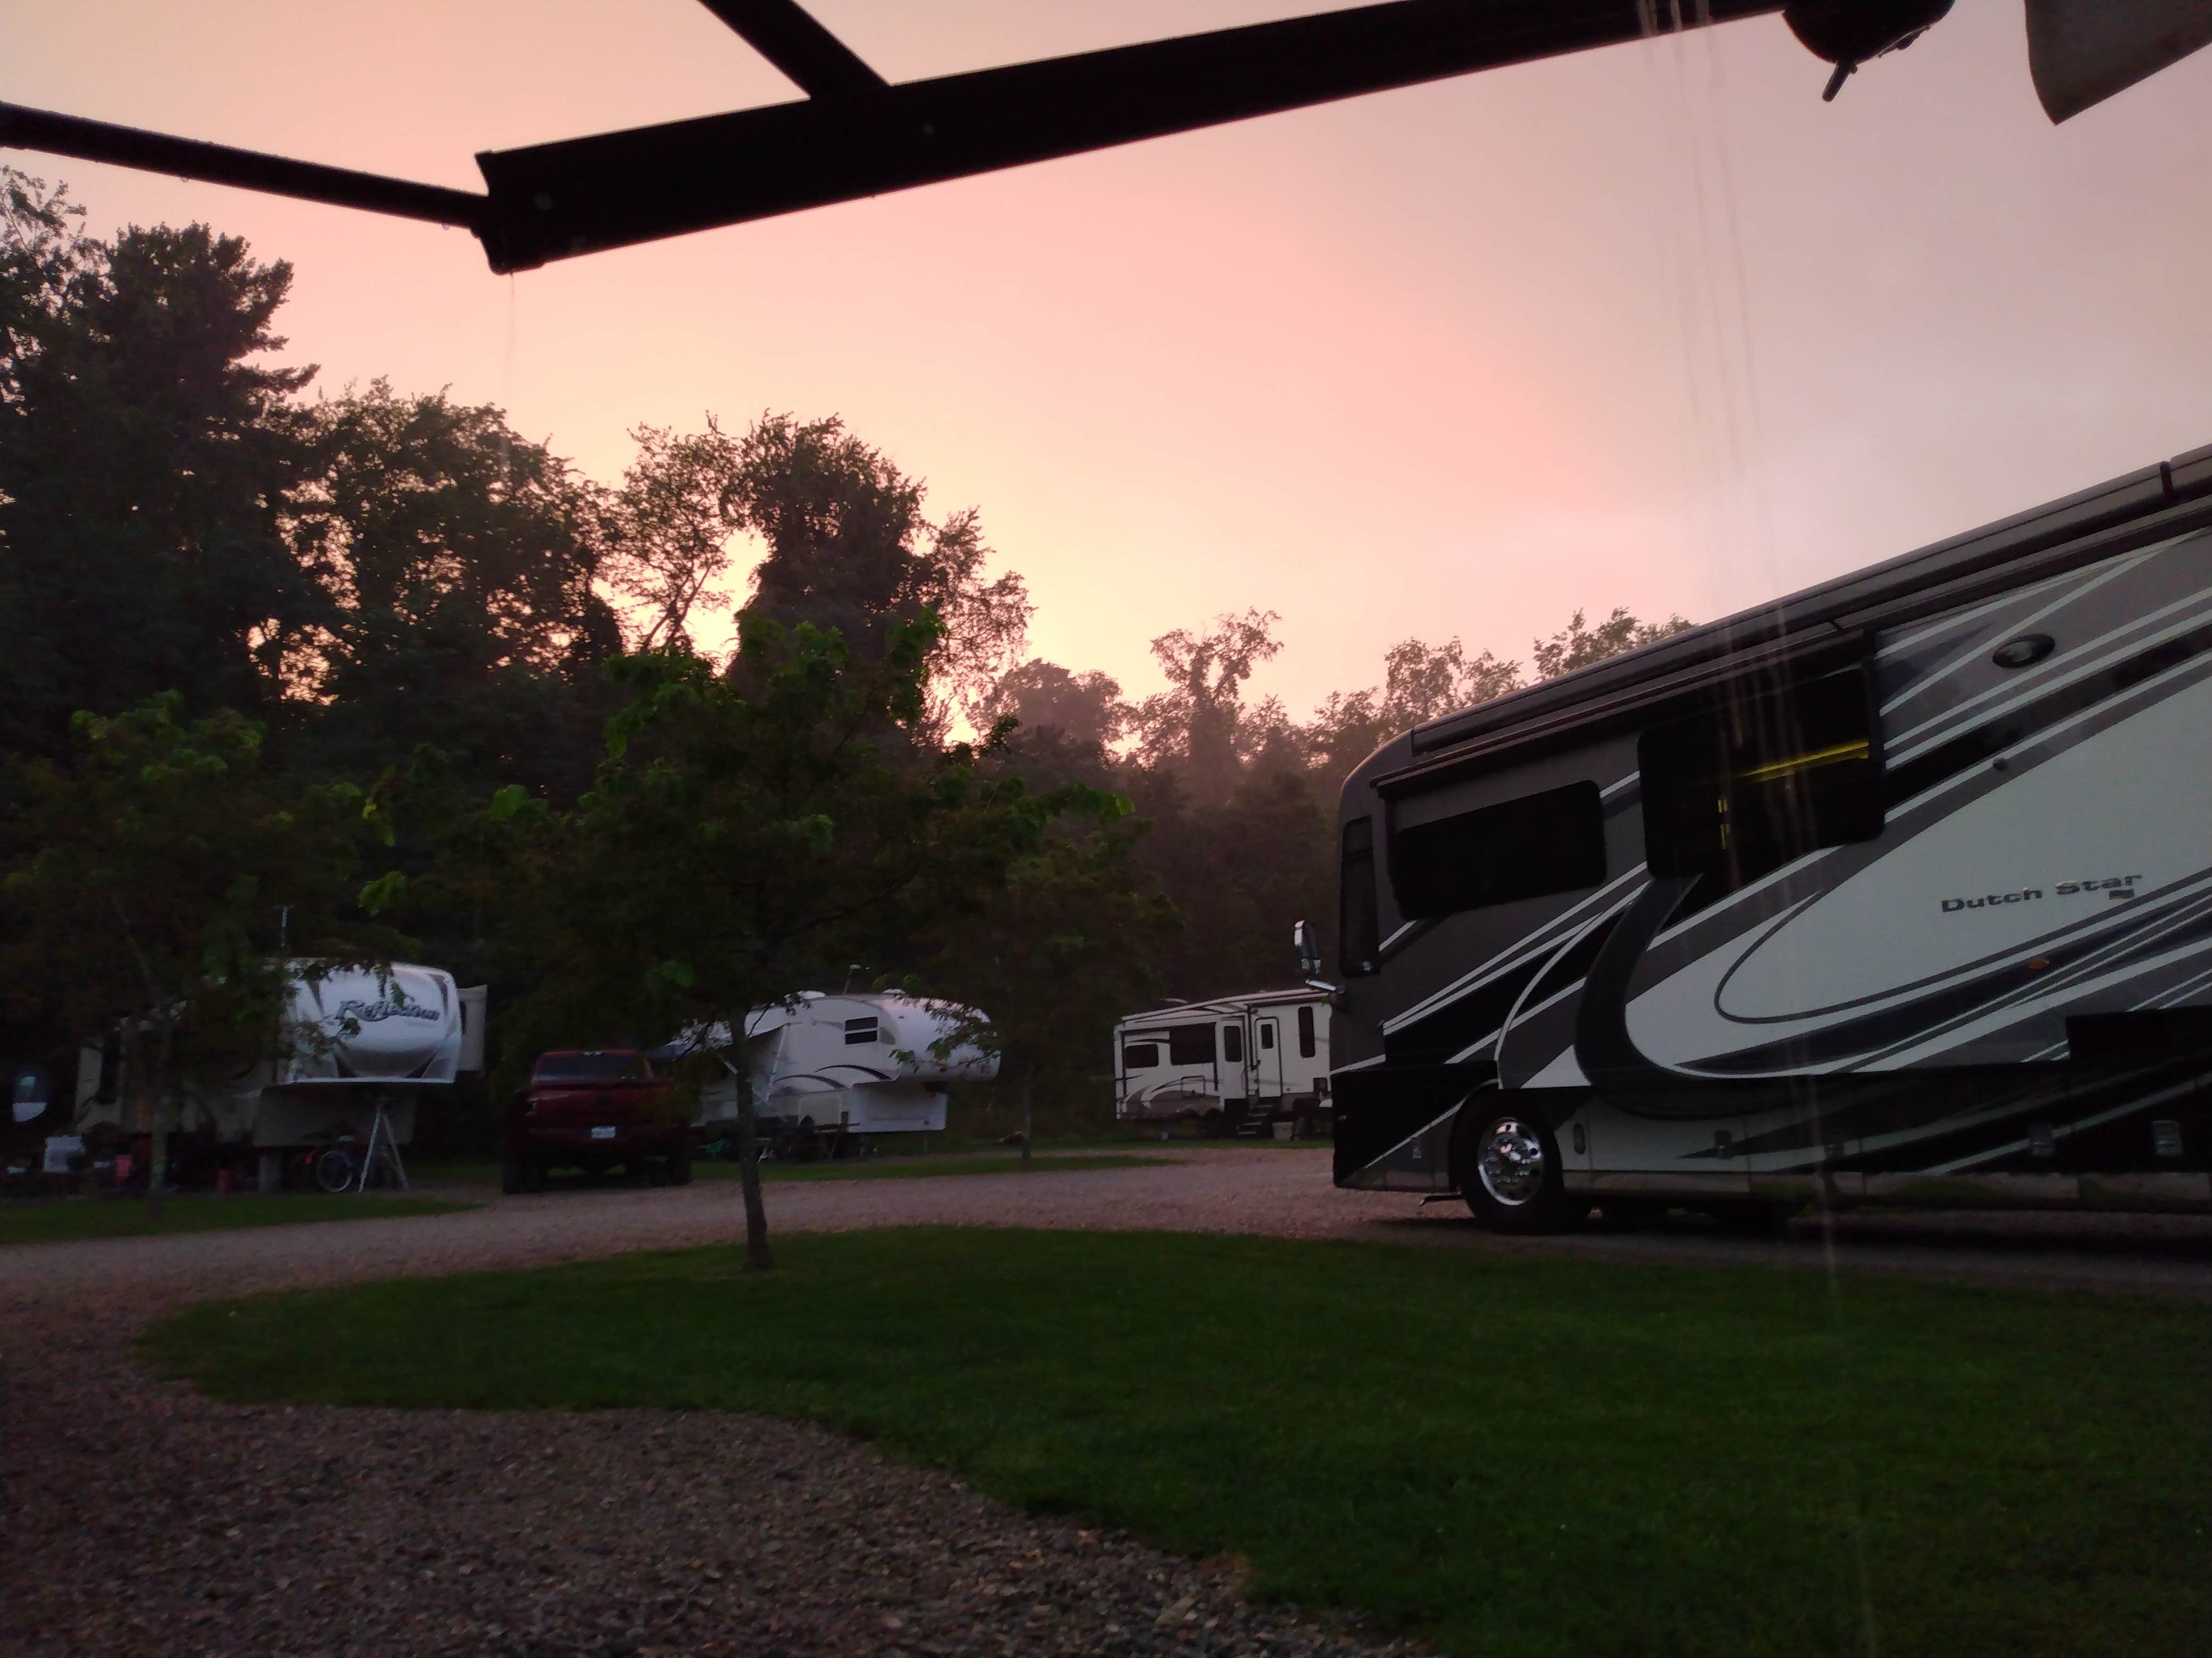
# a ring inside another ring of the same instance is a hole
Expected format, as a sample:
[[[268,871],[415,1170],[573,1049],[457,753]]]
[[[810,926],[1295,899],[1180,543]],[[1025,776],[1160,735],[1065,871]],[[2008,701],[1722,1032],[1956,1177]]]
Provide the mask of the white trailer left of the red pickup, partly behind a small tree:
[[[445,968],[394,962],[389,970],[332,968],[314,975],[292,964],[285,1012],[270,1057],[228,1085],[201,1088],[184,1101],[177,1127],[210,1134],[219,1147],[274,1154],[334,1141],[367,1138],[378,1110],[392,1136],[414,1141],[416,1103],[425,1090],[451,1088],[484,1068],[484,988],[460,988]],[[75,1132],[100,1123],[144,1130],[124,1079],[108,1074],[104,1054],[86,1048],[77,1061]]]

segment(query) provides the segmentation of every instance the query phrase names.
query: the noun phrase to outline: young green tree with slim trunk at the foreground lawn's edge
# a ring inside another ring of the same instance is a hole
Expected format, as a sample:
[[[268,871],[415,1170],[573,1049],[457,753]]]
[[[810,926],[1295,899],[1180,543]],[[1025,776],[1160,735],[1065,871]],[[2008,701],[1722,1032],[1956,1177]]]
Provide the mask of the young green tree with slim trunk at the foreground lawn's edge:
[[[613,663],[630,703],[573,811],[502,791],[458,847],[507,889],[509,926],[555,970],[520,1030],[630,1039],[790,1004],[854,959],[896,959],[973,913],[1082,789],[984,778],[978,749],[885,747],[927,718],[942,628],[925,612],[858,661],[836,632],[741,617],[728,672],[681,652]],[[896,747],[896,745],[894,745]],[[573,1037],[571,1037],[573,1039]],[[770,1265],[752,1092],[737,1090],[745,1262]]]

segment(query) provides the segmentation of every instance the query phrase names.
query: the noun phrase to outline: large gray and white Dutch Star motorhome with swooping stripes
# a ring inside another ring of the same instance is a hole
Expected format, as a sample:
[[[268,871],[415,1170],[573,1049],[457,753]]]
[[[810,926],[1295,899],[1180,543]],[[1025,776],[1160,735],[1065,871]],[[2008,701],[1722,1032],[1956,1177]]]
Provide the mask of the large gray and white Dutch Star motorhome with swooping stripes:
[[[2212,1205],[2212,449],[1347,780],[1336,1183]]]

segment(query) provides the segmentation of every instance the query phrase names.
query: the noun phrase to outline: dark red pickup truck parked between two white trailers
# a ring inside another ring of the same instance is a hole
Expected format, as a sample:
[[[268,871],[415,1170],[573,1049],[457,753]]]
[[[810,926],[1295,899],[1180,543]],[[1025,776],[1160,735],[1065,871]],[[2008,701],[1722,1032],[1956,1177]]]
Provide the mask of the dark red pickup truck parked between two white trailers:
[[[546,1169],[690,1185],[690,1123],[670,1110],[668,1077],[630,1048],[538,1054],[531,1081],[507,1101],[502,1192],[544,1192]]]

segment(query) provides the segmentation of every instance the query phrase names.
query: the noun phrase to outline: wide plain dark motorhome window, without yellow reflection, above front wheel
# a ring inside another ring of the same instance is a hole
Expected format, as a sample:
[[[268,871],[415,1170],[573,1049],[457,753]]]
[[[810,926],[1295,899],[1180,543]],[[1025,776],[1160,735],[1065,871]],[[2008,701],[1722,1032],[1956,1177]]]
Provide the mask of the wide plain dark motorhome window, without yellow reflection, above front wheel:
[[[1407,920],[1573,893],[1604,878],[1606,816],[1595,783],[1418,822],[1389,849],[1391,891]]]

